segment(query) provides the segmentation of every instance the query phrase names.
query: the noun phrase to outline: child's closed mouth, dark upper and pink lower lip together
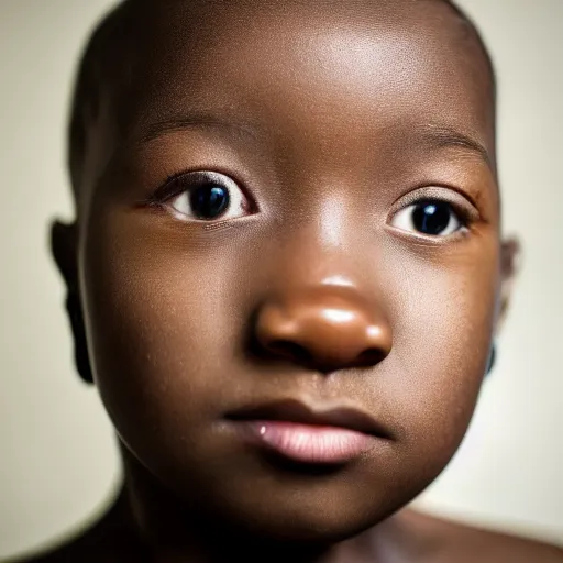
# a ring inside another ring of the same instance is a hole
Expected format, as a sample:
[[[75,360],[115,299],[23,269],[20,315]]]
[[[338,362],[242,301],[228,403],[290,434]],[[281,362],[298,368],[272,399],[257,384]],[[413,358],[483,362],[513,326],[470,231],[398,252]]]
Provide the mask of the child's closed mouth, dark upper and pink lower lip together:
[[[350,462],[391,434],[350,408],[313,410],[297,400],[251,406],[228,415],[245,441],[306,464]]]

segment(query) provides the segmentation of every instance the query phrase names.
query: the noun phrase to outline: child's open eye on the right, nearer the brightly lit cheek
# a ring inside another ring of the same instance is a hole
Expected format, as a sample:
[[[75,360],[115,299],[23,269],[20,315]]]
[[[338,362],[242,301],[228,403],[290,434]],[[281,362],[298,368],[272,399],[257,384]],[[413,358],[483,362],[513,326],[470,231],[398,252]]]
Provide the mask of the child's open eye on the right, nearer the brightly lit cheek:
[[[391,225],[429,236],[448,236],[466,227],[453,206],[441,199],[421,199],[400,209]]]

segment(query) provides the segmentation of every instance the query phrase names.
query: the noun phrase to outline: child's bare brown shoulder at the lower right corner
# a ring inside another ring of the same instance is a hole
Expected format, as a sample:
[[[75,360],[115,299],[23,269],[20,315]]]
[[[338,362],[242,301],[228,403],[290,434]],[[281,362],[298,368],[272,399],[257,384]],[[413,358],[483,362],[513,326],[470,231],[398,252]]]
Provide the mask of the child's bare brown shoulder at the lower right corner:
[[[556,545],[410,510],[405,517],[420,537],[438,547],[431,558],[437,563],[563,563],[563,548]]]

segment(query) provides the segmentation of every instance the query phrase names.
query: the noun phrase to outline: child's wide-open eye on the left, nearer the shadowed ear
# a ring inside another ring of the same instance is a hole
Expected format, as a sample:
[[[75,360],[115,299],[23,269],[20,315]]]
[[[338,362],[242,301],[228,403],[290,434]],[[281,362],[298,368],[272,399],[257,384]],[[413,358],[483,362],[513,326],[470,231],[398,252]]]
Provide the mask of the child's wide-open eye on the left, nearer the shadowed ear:
[[[250,202],[239,185],[217,172],[194,172],[169,180],[165,191],[173,192],[162,201],[180,221],[214,221],[249,213]]]

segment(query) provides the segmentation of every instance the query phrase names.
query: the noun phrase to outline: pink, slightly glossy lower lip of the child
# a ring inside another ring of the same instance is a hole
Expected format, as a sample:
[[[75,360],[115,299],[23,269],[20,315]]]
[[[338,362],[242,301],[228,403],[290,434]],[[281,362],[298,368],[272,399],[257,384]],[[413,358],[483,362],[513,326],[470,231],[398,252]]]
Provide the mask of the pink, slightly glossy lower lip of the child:
[[[301,463],[344,463],[367,451],[375,440],[344,428],[277,420],[253,420],[242,427],[253,442]]]

